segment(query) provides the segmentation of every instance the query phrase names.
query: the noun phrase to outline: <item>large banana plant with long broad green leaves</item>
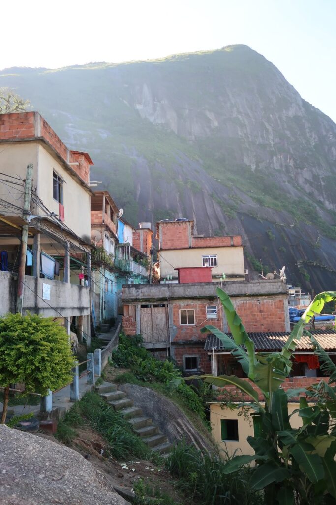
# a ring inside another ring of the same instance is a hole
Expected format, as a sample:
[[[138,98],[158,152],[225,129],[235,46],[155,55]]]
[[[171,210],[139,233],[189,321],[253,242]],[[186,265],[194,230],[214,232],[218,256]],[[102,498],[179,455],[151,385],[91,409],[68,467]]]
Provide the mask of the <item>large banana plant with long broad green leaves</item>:
[[[200,376],[206,382],[225,387],[234,384],[240,391],[251,396],[249,407],[255,411],[259,427],[256,437],[247,441],[255,454],[236,456],[226,465],[226,473],[235,472],[241,465],[255,460],[251,477],[253,489],[264,489],[265,503],[275,505],[322,505],[334,503],[336,498],[336,388],[320,381],[310,390],[285,391],[282,383],[292,367],[292,352],[300,340],[304,326],[314,314],[320,313],[324,303],[336,299],[336,292],[317,295],[301,319],[296,323],[281,352],[255,352],[254,342],[248,336],[229,296],[217,289],[221,299],[232,339],[214,326],[204,331],[215,334],[227,350],[239,361],[250,381],[261,390],[264,402],[259,401],[254,387],[244,379],[233,375],[213,377]],[[311,337],[316,354],[323,362],[323,369],[331,371],[330,381],[336,381],[336,368],[323,349]],[[330,382],[329,381],[329,382]],[[288,415],[288,399],[300,397],[297,412],[302,427],[294,429]],[[307,399],[314,397],[315,405]]]

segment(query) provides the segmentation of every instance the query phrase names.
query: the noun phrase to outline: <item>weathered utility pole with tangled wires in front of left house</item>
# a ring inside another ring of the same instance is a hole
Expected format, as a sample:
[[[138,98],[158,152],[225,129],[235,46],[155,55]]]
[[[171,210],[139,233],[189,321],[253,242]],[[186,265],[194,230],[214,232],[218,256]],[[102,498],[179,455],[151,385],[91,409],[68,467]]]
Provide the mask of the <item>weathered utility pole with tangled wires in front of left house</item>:
[[[27,174],[25,181],[25,195],[23,201],[23,219],[27,219],[30,213],[30,200],[32,194],[32,180],[33,180],[33,164],[27,165]],[[26,270],[26,254],[27,254],[27,239],[28,239],[28,224],[22,226],[21,231],[21,244],[20,244],[20,258],[19,258],[19,274],[18,274],[18,289],[16,295],[15,312],[22,314],[23,307],[23,288]]]

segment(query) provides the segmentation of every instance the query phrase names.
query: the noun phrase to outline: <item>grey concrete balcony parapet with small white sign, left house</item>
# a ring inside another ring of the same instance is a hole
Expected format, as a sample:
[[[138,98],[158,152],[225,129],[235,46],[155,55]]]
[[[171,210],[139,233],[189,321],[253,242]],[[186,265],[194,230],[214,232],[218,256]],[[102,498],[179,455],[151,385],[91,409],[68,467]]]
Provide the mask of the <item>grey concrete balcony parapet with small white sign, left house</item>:
[[[23,312],[42,316],[83,316],[90,313],[90,288],[68,282],[25,276]],[[0,271],[0,316],[15,312],[17,280]],[[58,314],[60,313],[60,314]]]

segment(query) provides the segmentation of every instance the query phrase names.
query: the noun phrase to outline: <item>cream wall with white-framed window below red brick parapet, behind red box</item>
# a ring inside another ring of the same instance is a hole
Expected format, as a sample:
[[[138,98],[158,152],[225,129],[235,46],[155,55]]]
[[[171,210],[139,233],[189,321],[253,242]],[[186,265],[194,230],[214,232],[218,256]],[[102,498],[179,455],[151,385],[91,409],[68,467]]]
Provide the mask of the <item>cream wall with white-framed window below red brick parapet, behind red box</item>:
[[[165,249],[160,254],[160,273],[161,277],[172,275],[177,279],[177,267],[201,267],[202,256],[217,255],[217,267],[213,267],[212,275],[238,275],[245,279],[244,275],[244,256],[243,247],[202,247],[190,249]],[[228,279],[229,280],[229,279]]]

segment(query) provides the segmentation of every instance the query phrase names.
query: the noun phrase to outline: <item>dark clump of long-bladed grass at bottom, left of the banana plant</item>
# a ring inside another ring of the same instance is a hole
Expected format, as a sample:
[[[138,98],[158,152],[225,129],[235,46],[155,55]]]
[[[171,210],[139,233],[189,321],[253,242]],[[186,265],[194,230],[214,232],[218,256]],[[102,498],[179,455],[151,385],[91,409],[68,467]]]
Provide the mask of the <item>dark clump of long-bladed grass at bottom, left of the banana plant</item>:
[[[179,489],[203,505],[257,505],[262,494],[249,487],[250,468],[244,467],[227,475],[225,466],[230,461],[209,455],[187,445],[184,440],[170,451],[166,468],[179,479]]]

